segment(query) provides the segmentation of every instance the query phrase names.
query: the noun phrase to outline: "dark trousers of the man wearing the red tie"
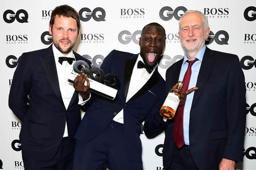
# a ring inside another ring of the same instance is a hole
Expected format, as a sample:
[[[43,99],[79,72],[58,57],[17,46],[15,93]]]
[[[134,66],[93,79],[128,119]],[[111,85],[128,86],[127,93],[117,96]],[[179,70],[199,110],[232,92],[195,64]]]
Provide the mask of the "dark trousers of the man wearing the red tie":
[[[202,158],[205,159],[205,158]],[[180,149],[174,146],[172,163],[169,168],[164,170],[199,170],[194,164],[189,146],[184,145]]]

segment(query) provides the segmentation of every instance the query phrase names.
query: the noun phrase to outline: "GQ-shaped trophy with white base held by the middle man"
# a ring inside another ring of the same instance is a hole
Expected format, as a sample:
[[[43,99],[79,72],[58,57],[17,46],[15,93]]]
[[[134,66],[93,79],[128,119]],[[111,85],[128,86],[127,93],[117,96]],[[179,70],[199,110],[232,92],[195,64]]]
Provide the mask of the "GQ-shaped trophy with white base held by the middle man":
[[[96,93],[110,100],[114,100],[114,98],[116,98],[116,94],[120,86],[118,76],[112,73],[105,74],[102,69],[93,65],[90,69],[88,63],[83,60],[78,60],[73,64],[73,70],[70,73],[68,81],[73,83],[76,76],[83,72],[88,75],[90,92]],[[86,85],[87,83],[85,82],[84,86]]]

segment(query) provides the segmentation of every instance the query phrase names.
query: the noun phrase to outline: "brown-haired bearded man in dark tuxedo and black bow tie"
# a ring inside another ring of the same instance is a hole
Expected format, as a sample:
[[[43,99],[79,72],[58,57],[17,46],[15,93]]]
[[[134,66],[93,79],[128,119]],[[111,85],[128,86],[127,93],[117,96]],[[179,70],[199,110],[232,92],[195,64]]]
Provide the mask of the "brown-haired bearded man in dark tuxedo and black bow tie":
[[[87,75],[79,75],[74,85],[68,82],[75,60],[90,65],[72,51],[80,35],[79,14],[70,6],[57,6],[49,33],[53,45],[23,53],[10,88],[9,107],[22,121],[20,141],[25,170],[72,169],[80,104],[89,95],[88,86],[84,86],[85,81],[89,83]]]

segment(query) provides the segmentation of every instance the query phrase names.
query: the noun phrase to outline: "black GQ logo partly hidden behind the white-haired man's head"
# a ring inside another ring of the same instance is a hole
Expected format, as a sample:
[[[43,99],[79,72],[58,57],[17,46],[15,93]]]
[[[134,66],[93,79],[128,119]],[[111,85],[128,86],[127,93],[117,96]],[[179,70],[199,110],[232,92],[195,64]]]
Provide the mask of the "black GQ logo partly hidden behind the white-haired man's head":
[[[205,41],[205,44],[208,45],[215,41],[218,45],[228,45],[229,35],[226,31],[220,30],[214,33],[210,31],[208,39]]]

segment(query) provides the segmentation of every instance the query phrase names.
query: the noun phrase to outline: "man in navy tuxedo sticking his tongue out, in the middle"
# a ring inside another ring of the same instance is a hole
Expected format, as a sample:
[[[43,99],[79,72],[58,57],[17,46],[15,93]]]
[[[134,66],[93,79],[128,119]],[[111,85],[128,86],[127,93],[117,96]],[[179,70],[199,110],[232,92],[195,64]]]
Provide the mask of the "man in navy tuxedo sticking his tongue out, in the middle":
[[[104,163],[110,170],[142,170],[140,124],[158,112],[165,97],[157,70],[164,28],[146,25],[139,45],[139,54],[113,50],[104,59],[102,70],[116,74],[120,88],[114,101],[92,95],[88,102],[75,136],[74,170],[102,170]]]

